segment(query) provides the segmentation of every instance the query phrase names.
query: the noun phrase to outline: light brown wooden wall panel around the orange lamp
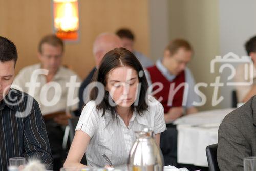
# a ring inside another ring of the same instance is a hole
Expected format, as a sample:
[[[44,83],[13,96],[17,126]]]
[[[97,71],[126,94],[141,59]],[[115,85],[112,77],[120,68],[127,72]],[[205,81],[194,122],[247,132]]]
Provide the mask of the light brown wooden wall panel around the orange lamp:
[[[0,35],[13,40],[18,48],[16,72],[38,62],[38,41],[53,32],[51,5],[51,0],[0,0]],[[92,44],[101,32],[129,27],[136,34],[136,49],[148,55],[147,0],[80,0],[79,10],[80,41],[66,43],[63,64],[71,66],[82,78],[94,66]]]

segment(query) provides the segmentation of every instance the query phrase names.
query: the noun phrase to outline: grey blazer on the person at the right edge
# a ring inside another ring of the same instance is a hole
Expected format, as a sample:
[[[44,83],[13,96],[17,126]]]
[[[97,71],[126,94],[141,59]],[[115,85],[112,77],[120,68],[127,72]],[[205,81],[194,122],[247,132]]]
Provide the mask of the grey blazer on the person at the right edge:
[[[243,159],[256,156],[256,96],[229,113],[218,132],[220,170],[243,171]]]

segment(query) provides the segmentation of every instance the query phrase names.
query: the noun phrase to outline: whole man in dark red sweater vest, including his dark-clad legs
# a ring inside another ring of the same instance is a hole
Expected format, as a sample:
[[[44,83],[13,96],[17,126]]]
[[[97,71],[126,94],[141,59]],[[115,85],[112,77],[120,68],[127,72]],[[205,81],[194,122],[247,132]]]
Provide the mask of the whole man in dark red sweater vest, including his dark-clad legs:
[[[192,47],[186,40],[175,39],[165,48],[164,57],[145,69],[152,95],[164,107],[166,123],[172,123],[183,114],[197,112],[193,106],[193,101],[199,101],[194,92],[195,81],[186,67],[192,55]],[[161,134],[160,147],[165,165],[178,166],[177,130],[174,125],[168,124],[167,130]]]

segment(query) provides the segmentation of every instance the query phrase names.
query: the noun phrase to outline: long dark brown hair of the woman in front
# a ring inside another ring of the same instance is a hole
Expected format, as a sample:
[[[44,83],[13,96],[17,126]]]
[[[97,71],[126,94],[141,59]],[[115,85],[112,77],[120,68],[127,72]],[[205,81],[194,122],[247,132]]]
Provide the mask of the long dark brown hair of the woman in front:
[[[136,110],[139,115],[143,115],[143,111],[147,110],[148,108],[148,105],[146,103],[146,95],[148,89],[147,80],[140,62],[134,56],[134,54],[126,50],[126,48],[115,48],[114,50],[111,50],[108,53],[106,53],[99,65],[97,72],[95,72],[94,74],[93,81],[100,82],[104,85],[104,87],[106,87],[106,80],[109,72],[112,71],[114,68],[120,66],[129,66],[136,70],[138,74],[139,83],[141,83],[140,92],[138,92],[137,96],[137,98],[139,98],[137,99],[138,105],[132,104],[131,109],[132,111]],[[98,92],[99,91],[97,88],[93,88],[90,94],[90,100],[95,100],[98,96]],[[106,110],[110,110],[112,118],[114,119],[117,117],[116,108],[109,104],[109,92],[106,90],[104,90],[103,100],[100,103],[98,103],[96,108],[97,110],[103,111],[102,116],[105,115]]]

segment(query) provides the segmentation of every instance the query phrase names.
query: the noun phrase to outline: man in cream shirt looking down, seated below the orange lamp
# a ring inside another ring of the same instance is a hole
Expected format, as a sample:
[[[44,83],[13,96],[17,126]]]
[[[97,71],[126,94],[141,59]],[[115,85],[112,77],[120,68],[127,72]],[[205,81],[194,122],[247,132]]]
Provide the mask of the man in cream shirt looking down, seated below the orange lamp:
[[[71,117],[66,115],[66,111],[78,109],[79,87],[70,88],[68,84],[72,78],[75,82],[81,82],[75,72],[62,66],[63,52],[64,44],[61,39],[55,35],[43,37],[38,45],[40,63],[20,70],[13,82],[16,88],[30,94],[39,103],[54,157],[54,170],[59,170],[63,165],[63,161],[59,159],[65,159],[61,154],[65,152],[62,148],[63,126],[68,124],[68,118]],[[69,92],[70,90],[73,92]],[[77,99],[77,103],[69,103],[71,99]]]

